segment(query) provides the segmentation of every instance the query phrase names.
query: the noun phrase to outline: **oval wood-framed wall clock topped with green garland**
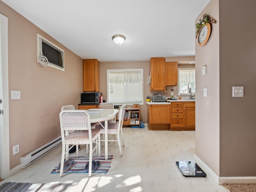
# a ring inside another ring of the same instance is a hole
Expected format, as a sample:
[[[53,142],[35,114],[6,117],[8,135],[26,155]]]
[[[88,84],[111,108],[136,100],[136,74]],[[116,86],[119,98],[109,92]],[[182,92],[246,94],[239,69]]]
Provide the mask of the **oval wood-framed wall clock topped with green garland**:
[[[207,14],[196,23],[196,38],[198,36],[199,46],[204,46],[210,38],[212,23],[216,23],[216,20]]]

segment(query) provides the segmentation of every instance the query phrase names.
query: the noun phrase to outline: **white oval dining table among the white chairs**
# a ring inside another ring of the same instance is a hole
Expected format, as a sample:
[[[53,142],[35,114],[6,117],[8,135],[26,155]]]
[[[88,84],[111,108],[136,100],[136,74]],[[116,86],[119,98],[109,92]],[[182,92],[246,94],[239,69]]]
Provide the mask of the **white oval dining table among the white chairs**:
[[[105,121],[105,160],[108,160],[108,120],[114,119],[117,116],[119,110],[117,109],[98,109],[98,110],[100,111],[100,113],[91,114],[90,119],[91,119],[91,123]]]

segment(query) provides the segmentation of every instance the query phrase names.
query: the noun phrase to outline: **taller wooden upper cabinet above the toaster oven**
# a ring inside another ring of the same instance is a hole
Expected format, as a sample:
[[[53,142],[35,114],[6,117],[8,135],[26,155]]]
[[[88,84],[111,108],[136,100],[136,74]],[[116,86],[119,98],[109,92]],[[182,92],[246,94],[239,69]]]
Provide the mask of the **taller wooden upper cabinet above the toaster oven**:
[[[165,90],[165,58],[151,58],[150,71],[150,91]]]

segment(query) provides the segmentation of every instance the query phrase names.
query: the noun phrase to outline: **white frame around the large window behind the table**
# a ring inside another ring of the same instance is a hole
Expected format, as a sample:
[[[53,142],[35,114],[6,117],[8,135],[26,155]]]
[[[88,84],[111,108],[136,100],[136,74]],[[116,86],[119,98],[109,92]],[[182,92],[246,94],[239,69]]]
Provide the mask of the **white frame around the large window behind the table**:
[[[113,71],[140,71],[141,73],[141,102],[132,102],[132,103],[119,103],[116,102],[114,103],[115,105],[132,105],[132,104],[138,104],[138,105],[143,105],[144,104],[144,84],[143,84],[143,69],[108,69],[107,70],[107,102],[109,102],[109,72],[113,72]]]

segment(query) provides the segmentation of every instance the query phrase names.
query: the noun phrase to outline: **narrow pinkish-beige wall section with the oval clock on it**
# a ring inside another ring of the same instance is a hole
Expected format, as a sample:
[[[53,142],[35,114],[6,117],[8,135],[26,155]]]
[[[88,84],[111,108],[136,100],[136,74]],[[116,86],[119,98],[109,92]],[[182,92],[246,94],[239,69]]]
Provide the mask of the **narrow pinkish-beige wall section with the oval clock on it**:
[[[196,156],[216,175],[220,166],[220,80],[219,80],[219,10],[218,0],[211,0],[197,22],[204,14],[217,20],[212,24],[210,39],[204,46],[196,42]],[[202,67],[207,65],[207,75],[202,76]],[[203,96],[207,88],[208,96]]]

